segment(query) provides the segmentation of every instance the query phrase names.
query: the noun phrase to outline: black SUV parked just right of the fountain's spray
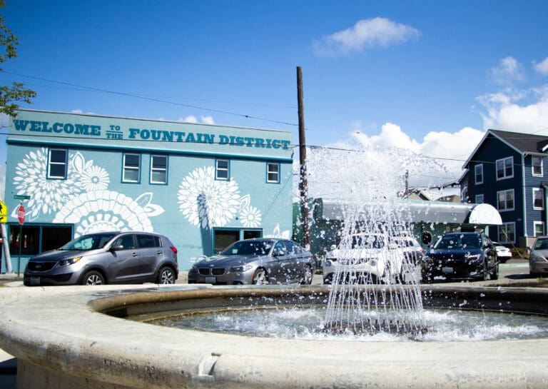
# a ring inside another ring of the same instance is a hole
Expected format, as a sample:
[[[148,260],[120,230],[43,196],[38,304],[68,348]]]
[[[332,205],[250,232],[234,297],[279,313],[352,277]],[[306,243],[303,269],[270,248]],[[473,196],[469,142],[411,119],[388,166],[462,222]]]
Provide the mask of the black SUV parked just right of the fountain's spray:
[[[422,256],[422,281],[435,276],[496,280],[499,261],[492,241],[483,233],[445,233]]]

